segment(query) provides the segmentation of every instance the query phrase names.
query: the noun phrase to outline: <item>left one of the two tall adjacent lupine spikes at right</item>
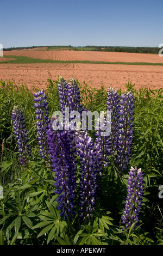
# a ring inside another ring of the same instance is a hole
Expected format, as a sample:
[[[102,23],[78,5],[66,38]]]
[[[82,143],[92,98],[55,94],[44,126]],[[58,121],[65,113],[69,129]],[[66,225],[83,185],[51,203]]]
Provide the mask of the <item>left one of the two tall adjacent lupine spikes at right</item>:
[[[118,125],[118,111],[119,111],[119,96],[117,90],[109,88],[107,91],[106,109],[111,112],[111,129],[110,136],[106,138],[106,154],[112,157],[117,149],[117,125]]]

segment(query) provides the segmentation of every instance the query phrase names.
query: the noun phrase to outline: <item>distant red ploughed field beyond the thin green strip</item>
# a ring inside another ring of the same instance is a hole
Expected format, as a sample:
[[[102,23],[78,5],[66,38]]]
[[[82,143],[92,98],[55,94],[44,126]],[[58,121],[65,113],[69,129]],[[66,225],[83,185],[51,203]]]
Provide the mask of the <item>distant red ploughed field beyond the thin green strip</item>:
[[[26,56],[35,59],[52,60],[90,60],[94,62],[148,62],[163,63],[158,54],[126,53],[126,52],[95,52],[95,51],[34,51],[12,50],[5,51],[5,56]]]

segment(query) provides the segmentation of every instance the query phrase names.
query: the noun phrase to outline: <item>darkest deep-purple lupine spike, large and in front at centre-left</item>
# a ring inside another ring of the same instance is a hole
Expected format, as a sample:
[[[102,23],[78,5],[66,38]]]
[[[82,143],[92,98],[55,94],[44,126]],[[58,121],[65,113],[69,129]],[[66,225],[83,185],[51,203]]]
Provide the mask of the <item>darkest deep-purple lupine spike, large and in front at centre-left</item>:
[[[57,117],[56,117],[57,118]],[[51,155],[52,170],[55,172],[55,194],[58,194],[58,210],[60,216],[70,217],[75,214],[74,199],[76,197],[76,159],[74,158],[75,148],[72,147],[71,136],[67,131],[54,131],[52,123],[55,117],[51,119],[51,125],[47,131],[47,141],[49,154]]]

